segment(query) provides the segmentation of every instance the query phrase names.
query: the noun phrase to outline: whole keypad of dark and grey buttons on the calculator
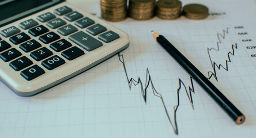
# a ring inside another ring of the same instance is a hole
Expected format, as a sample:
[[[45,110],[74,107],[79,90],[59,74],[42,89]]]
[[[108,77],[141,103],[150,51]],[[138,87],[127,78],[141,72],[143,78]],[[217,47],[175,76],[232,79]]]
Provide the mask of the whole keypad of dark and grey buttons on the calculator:
[[[78,57],[86,55],[86,51],[90,52],[103,46],[102,42],[110,43],[120,37],[119,34],[111,30],[106,32],[105,26],[95,24],[91,18],[83,17],[78,11],[62,6],[52,13],[40,14],[36,20],[29,18],[21,21],[18,27],[22,29],[22,32],[16,26],[3,29],[0,34],[3,37],[10,37],[9,41],[13,44],[20,44],[20,49],[12,48],[9,43],[5,40],[1,41],[0,38],[0,58],[4,62],[10,62],[10,68],[17,72],[21,71],[20,75],[27,81],[31,81],[45,74],[45,69],[54,70],[57,68],[56,70],[58,70],[58,67],[66,63],[65,60],[76,60]],[[85,29],[81,30],[80,28]],[[33,36],[32,39],[28,34]],[[77,45],[72,45],[67,39],[61,39],[59,34],[68,36],[67,38]],[[99,36],[97,36],[98,34]],[[44,47],[39,40],[45,44]],[[55,53],[51,51],[52,49]],[[21,56],[22,53],[19,50],[28,53],[30,57],[26,56],[25,53]]]

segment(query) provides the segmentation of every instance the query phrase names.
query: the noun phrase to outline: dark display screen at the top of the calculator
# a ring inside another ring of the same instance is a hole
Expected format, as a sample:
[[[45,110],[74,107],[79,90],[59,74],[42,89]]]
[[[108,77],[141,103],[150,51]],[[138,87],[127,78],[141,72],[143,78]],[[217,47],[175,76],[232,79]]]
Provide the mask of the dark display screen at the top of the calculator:
[[[0,0],[0,25],[58,2],[58,0]]]

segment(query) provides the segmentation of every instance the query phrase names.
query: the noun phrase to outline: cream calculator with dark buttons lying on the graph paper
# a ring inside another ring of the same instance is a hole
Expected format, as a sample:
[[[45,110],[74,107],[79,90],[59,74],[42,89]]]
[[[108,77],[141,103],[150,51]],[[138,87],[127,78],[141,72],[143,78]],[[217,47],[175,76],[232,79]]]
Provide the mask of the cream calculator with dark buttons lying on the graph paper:
[[[129,36],[66,1],[0,1],[0,78],[29,97],[129,47]]]

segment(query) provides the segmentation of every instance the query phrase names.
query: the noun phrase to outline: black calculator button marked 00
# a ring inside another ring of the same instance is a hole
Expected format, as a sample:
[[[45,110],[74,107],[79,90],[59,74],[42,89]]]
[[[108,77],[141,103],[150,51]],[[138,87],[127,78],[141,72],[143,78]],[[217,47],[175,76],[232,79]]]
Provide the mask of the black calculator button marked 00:
[[[53,70],[65,63],[61,57],[55,55],[42,62],[42,65],[47,68],[47,70]]]

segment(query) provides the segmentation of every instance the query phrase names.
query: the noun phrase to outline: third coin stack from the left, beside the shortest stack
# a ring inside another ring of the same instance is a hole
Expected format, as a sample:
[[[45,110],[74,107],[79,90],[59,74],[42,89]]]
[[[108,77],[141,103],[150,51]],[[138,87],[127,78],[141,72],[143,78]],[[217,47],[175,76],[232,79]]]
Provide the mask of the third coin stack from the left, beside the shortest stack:
[[[156,16],[165,20],[180,17],[182,3],[178,0],[159,0],[156,2]]]

